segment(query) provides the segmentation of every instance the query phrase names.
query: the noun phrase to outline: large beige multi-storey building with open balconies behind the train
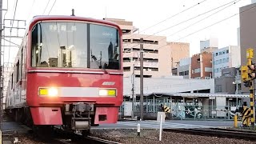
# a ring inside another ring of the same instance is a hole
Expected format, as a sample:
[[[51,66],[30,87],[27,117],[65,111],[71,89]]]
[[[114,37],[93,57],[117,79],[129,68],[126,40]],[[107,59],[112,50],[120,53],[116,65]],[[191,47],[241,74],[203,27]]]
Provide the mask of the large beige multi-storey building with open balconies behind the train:
[[[145,78],[171,75],[172,67],[181,58],[190,55],[189,44],[166,42],[165,36],[135,34],[138,31],[133,22],[124,19],[105,18],[116,22],[122,29],[124,76],[140,76],[140,38],[143,38],[143,76]],[[177,67],[177,66],[176,66]]]

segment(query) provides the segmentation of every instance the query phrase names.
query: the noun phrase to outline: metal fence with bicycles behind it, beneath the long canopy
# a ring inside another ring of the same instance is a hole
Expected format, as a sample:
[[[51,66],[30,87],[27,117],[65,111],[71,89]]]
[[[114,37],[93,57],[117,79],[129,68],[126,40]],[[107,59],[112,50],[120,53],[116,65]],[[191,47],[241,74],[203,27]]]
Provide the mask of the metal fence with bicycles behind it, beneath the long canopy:
[[[167,98],[149,99],[143,103],[144,115],[155,117],[158,111],[162,111],[161,104],[170,107],[172,119],[224,119],[232,120],[234,114],[238,113],[237,106],[202,106],[202,103],[170,102]],[[120,107],[119,114],[125,115],[125,110],[132,110],[132,105]],[[139,116],[140,102],[134,103],[134,114]],[[154,118],[150,118],[154,119]]]

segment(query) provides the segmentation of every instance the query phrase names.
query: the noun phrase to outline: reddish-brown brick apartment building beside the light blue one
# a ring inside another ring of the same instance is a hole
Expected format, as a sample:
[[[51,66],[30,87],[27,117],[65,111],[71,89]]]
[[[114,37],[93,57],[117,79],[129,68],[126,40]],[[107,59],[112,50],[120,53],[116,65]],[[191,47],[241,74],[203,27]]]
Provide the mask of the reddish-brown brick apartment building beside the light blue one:
[[[191,58],[191,78],[212,78],[212,53],[194,54]]]

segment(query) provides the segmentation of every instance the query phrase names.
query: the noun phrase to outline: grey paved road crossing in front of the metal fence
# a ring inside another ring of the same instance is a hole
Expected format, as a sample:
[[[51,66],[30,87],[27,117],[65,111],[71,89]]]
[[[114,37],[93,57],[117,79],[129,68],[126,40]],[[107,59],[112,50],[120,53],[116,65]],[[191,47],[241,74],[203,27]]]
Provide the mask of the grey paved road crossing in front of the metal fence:
[[[160,123],[157,121],[123,121],[116,124],[102,124],[92,129],[137,129],[138,123],[142,129],[158,129]],[[182,128],[210,128],[210,127],[231,127],[233,121],[186,121],[170,120],[162,123],[163,129],[182,129]]]

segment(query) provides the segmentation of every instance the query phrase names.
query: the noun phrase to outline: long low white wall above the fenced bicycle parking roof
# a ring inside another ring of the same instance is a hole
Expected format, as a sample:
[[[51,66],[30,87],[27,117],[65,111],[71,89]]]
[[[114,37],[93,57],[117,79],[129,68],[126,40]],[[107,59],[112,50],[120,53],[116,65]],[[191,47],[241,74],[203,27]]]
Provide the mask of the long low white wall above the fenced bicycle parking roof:
[[[140,79],[135,78],[135,94],[140,94]],[[144,78],[144,94],[151,93],[178,93],[194,90],[210,89],[214,93],[214,79],[184,79],[181,76],[168,78]],[[131,95],[131,77],[124,78],[124,95]]]

